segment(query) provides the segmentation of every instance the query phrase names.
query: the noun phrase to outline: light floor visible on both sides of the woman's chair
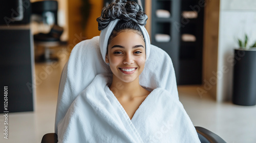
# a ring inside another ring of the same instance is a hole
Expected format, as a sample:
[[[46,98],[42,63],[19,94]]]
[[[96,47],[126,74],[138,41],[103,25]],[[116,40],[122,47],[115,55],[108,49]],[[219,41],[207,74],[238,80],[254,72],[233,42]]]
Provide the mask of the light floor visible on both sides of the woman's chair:
[[[3,135],[3,114],[0,114],[0,142],[40,142],[44,134],[54,132],[55,109],[61,70],[69,55],[65,52],[58,62],[36,63],[36,86],[34,112],[9,113],[9,139]],[[46,79],[40,73],[46,72]],[[204,127],[231,143],[256,142],[256,106],[238,106],[231,102],[216,103],[207,94],[200,97],[200,86],[179,86],[179,97],[195,126]]]

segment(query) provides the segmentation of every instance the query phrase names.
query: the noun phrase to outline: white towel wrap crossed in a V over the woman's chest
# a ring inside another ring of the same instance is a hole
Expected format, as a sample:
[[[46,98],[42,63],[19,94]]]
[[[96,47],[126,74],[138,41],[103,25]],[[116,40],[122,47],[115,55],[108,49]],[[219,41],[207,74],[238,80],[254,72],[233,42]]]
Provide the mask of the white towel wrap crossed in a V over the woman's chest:
[[[58,142],[200,142],[182,104],[163,88],[154,89],[132,120],[99,74],[58,123]]]

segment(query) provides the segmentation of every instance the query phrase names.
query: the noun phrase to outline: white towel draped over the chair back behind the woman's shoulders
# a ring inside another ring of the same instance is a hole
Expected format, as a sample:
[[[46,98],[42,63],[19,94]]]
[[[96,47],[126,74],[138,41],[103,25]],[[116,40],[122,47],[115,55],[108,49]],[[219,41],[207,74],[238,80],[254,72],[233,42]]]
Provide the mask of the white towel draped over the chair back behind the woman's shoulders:
[[[78,94],[86,89],[96,75],[111,73],[110,67],[103,61],[100,53],[99,36],[78,43],[62,72],[55,116],[55,133],[58,133],[58,123],[64,118]],[[159,47],[151,45],[151,54],[139,78],[141,86],[151,90],[161,87],[170,93],[169,96],[178,100],[172,60]]]

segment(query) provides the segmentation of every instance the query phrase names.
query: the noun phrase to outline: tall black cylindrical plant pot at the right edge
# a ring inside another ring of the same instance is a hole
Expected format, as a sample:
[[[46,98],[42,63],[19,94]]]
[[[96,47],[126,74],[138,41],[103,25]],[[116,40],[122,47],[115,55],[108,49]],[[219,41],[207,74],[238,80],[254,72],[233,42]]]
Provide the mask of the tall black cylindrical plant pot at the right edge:
[[[256,105],[256,50],[234,50],[232,102]]]

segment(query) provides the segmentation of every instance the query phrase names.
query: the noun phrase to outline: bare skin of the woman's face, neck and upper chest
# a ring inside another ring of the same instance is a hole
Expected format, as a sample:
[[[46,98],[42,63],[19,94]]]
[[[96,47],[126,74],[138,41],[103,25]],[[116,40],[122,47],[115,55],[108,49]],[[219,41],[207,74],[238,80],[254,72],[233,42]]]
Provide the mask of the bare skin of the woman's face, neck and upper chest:
[[[145,42],[133,30],[124,30],[108,45],[108,54],[105,61],[110,63],[113,81],[110,90],[123,106],[127,115],[132,119],[141,103],[150,94],[139,84],[139,75],[145,65]],[[132,74],[125,74],[120,68],[135,67]]]

